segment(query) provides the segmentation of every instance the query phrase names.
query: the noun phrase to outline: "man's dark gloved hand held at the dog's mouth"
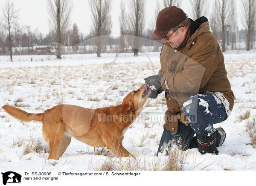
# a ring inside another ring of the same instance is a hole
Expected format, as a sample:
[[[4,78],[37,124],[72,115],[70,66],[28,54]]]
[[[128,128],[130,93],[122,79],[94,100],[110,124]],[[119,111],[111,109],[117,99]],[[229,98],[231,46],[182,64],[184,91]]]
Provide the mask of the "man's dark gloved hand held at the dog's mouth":
[[[148,96],[151,99],[156,99],[157,95],[163,90],[161,85],[162,75],[149,76],[145,78],[145,84],[148,88],[151,89],[151,94]]]

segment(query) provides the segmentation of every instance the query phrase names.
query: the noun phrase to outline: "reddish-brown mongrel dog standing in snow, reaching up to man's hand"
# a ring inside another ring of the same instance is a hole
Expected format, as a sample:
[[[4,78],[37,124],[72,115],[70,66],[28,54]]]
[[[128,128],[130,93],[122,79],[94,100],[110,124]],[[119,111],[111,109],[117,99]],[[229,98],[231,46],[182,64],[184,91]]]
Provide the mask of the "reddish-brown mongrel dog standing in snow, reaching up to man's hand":
[[[125,96],[121,105],[106,108],[57,105],[44,113],[27,113],[9,105],[2,108],[22,122],[43,122],[42,132],[49,144],[49,159],[58,160],[70,144],[71,137],[93,147],[107,147],[116,157],[134,157],[122,146],[122,140],[149,93],[143,85]]]

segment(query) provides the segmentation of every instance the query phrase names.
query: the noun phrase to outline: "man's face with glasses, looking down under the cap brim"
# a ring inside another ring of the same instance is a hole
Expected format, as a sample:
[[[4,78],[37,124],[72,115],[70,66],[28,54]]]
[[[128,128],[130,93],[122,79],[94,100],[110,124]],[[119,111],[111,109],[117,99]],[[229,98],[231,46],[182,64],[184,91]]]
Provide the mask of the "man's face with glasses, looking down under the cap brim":
[[[184,41],[184,39],[186,37],[186,31],[187,31],[187,29],[184,26],[180,27],[175,32],[169,31],[165,38],[167,38],[172,33],[173,34],[168,38],[168,41],[166,41],[166,39],[164,39],[164,38],[162,39],[162,41],[163,41],[163,43],[168,42],[172,48],[177,48]]]

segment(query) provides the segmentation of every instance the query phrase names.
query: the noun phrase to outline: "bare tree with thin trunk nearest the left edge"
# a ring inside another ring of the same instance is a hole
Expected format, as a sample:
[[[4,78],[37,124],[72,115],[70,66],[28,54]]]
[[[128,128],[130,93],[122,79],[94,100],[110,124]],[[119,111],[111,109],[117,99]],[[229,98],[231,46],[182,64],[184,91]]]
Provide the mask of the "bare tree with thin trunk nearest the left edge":
[[[10,52],[10,60],[12,61],[12,47],[15,40],[17,32],[20,31],[18,23],[18,11],[15,10],[13,2],[9,0],[6,1],[6,4],[3,6],[3,21],[1,21],[1,26],[3,31],[6,32],[8,48]]]

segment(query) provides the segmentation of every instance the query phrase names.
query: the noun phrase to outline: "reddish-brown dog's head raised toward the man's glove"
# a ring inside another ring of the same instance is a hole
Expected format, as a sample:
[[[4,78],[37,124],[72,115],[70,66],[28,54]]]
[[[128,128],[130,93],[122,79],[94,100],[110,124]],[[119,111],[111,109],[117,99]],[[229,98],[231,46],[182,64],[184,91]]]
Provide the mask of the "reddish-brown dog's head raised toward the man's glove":
[[[125,96],[125,99],[122,102],[123,113],[139,115],[150,93],[151,91],[145,90],[144,84],[138,90],[133,90],[128,93],[128,95]]]

